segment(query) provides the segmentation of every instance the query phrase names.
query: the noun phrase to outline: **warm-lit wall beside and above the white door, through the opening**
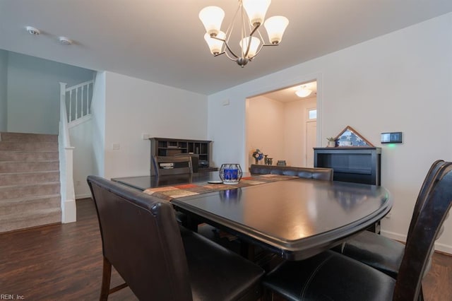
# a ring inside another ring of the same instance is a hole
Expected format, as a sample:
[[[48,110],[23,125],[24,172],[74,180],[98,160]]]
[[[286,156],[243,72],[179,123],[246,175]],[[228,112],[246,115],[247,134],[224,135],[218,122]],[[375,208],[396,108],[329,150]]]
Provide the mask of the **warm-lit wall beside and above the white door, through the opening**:
[[[316,107],[316,98],[287,102],[284,107],[284,158],[287,165],[306,166],[307,109]]]

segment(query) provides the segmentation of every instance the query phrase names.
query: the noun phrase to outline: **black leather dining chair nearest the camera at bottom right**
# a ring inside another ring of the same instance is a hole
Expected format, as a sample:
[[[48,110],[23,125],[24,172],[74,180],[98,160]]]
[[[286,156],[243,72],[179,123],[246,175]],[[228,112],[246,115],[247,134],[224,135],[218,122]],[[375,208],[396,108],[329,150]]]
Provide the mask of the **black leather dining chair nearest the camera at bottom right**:
[[[263,280],[267,293],[287,300],[419,300],[434,241],[452,206],[452,165],[439,167],[408,237],[397,279],[355,259],[327,251],[285,261]]]

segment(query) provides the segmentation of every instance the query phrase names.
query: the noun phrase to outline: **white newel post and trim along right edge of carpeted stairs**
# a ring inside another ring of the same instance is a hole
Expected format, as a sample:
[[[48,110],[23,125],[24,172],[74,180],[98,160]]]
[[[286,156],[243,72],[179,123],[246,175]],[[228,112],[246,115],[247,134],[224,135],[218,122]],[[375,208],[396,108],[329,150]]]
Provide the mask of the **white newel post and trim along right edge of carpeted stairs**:
[[[66,83],[60,85],[59,121],[59,177],[61,191],[61,223],[76,221],[76,193],[73,187],[73,147],[69,138],[68,114],[66,110]]]

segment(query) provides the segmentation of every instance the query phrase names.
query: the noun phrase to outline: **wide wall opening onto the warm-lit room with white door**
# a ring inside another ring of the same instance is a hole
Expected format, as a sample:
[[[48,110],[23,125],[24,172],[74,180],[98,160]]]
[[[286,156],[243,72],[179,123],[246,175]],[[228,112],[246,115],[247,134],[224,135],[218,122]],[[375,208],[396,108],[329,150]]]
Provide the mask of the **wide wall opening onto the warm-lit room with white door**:
[[[302,85],[311,90],[304,98],[295,94]],[[316,107],[316,81],[247,98],[246,148],[249,164],[254,162],[251,151],[258,148],[273,159],[273,165],[278,160],[285,160],[290,166],[313,166],[312,148],[317,143],[317,126],[316,119],[310,119],[307,112],[316,110]]]

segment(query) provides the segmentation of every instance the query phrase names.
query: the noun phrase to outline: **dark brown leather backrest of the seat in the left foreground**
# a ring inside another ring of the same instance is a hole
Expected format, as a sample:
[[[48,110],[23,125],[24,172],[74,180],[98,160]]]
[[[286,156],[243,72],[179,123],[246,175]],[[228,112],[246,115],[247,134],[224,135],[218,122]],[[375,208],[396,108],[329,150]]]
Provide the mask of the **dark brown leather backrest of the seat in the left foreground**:
[[[184,244],[170,203],[88,176],[102,252],[139,300],[191,300]]]

